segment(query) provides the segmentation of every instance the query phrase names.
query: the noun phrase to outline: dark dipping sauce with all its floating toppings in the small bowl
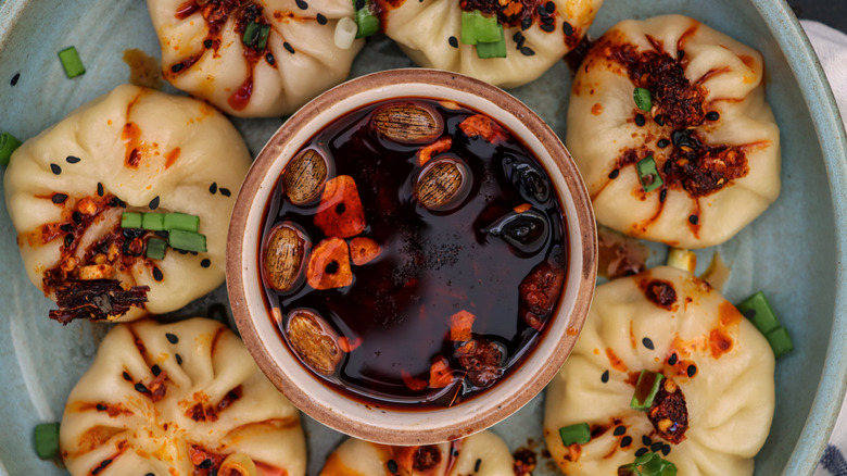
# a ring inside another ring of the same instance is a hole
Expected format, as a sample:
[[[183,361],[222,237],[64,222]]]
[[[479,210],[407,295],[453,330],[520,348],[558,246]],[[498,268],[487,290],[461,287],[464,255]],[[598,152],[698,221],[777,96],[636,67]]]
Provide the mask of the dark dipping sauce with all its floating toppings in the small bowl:
[[[450,101],[339,117],[287,164],[265,216],[260,279],[282,345],[375,406],[453,405],[502,381],[566,285],[546,172]]]

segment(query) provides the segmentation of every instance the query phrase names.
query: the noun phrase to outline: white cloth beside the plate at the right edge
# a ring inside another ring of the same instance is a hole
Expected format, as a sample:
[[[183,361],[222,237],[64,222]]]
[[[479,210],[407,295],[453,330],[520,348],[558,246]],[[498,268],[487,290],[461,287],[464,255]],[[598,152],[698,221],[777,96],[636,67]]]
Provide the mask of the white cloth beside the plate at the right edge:
[[[804,20],[800,22],[809,36],[823,71],[835,93],[842,117],[847,117],[847,35],[829,26]],[[830,443],[814,471],[814,476],[847,476],[847,399],[830,437]]]

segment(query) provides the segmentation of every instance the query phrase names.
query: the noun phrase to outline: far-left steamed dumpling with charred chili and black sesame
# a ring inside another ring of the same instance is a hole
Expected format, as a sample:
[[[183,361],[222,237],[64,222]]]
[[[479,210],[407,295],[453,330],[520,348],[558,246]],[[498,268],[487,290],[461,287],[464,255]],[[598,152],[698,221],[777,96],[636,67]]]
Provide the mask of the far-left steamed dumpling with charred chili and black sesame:
[[[131,321],[184,306],[224,281],[227,224],[250,162],[238,131],[211,105],[117,87],[12,155],[3,188],[29,279],[53,300],[73,289],[72,301],[88,293],[97,304],[97,315],[63,313],[61,322]],[[121,215],[153,209],[199,216],[207,252],[146,258],[157,237],[126,234]],[[143,286],[148,302],[122,308],[129,298],[116,295]]]

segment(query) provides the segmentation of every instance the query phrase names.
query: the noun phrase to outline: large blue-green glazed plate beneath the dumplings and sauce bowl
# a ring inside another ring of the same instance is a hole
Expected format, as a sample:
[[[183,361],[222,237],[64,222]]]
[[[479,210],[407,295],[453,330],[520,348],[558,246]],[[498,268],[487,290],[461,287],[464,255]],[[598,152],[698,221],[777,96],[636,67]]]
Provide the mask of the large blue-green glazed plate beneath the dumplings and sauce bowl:
[[[623,18],[681,13],[759,49],[768,68],[768,99],[782,127],[783,190],[756,222],[718,247],[732,267],[726,297],[737,301],[763,289],[796,350],[776,365],[776,414],[756,458],[756,475],[809,475],[823,451],[845,392],[847,375],[847,141],[823,73],[791,10],[782,0],[606,0],[594,36]],[[66,79],[56,52],[75,46],[88,72]],[[0,129],[36,135],[73,109],[125,83],[124,50],[159,57],[159,43],[140,0],[0,0]],[[384,38],[356,59],[355,76],[409,66]],[[20,74],[16,85],[12,78]],[[571,74],[564,63],[510,92],[564,137]],[[235,121],[255,154],[282,120]],[[2,201],[0,193],[0,202]],[[0,475],[52,475],[64,471],[39,461],[33,427],[58,421],[65,398],[86,371],[104,326],[47,318],[51,303],[26,278],[15,231],[0,206]],[[715,249],[699,252],[700,267]],[[654,247],[649,264],[665,260]],[[703,271],[703,270],[698,270]],[[213,295],[174,317],[206,315],[226,295]],[[540,454],[536,475],[558,474],[541,456],[543,394],[496,425],[513,450]],[[308,474],[316,475],[342,439],[304,417]]]

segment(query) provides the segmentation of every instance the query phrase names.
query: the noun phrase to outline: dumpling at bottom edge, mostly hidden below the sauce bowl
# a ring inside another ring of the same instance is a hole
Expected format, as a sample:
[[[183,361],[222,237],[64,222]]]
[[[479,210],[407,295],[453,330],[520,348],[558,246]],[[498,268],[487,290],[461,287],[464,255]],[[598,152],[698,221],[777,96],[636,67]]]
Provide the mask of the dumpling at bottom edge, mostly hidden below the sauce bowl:
[[[452,443],[391,447],[349,438],[333,451],[320,476],[515,476],[515,459],[491,431]]]

